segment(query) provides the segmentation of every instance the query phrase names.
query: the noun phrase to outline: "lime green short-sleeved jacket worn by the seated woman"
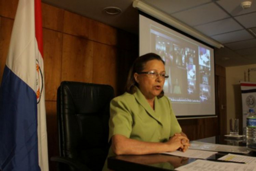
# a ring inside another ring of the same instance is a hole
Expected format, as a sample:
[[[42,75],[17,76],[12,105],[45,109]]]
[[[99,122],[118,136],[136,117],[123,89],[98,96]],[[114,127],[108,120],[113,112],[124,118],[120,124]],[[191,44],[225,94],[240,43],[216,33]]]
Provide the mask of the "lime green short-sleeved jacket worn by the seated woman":
[[[167,142],[175,133],[181,133],[168,97],[155,97],[154,108],[139,88],[134,94],[124,93],[114,98],[110,104],[109,140],[119,134],[144,142]],[[113,155],[110,148],[108,157]]]

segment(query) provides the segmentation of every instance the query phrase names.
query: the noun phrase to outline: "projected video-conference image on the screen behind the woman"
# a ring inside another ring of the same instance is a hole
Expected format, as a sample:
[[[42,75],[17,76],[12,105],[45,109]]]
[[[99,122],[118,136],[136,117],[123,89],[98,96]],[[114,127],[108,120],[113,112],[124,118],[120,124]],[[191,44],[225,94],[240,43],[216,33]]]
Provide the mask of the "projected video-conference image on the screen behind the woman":
[[[209,49],[151,28],[151,52],[165,61],[164,92],[173,103],[211,102]]]

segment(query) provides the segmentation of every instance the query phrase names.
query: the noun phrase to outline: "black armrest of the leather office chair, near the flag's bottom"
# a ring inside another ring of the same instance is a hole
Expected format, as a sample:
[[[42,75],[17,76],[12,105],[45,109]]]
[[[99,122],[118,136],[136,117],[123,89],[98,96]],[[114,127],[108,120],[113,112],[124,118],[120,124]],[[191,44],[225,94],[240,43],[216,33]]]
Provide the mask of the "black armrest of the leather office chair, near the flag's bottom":
[[[74,167],[76,170],[79,170],[79,171],[92,171],[86,165],[84,165],[83,163],[81,163],[78,160],[73,159],[73,158],[54,156],[54,157],[51,157],[51,161],[67,164],[69,166]]]

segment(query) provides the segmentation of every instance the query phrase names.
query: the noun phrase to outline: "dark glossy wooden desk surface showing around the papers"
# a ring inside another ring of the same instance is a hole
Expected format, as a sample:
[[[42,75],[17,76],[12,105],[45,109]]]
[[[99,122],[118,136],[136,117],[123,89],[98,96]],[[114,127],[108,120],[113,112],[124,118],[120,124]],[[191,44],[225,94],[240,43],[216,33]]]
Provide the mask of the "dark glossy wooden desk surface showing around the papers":
[[[246,143],[225,139],[223,136],[209,137],[197,141],[214,144],[228,144],[246,146]],[[218,159],[228,153],[219,152],[209,159]],[[256,152],[250,152],[247,156],[255,156]],[[194,162],[195,158],[184,158],[165,154],[150,155],[119,155],[107,159],[108,168],[111,170],[175,170],[175,168]]]

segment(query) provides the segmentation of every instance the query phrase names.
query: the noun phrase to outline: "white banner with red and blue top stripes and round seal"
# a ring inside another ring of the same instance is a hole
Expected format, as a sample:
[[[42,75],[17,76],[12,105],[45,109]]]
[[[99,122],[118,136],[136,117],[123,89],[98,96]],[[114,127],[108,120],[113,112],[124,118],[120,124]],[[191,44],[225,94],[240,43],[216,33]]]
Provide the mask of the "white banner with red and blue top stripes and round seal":
[[[246,118],[249,109],[256,109],[256,83],[241,82],[242,107],[243,107],[243,133],[246,130]]]

